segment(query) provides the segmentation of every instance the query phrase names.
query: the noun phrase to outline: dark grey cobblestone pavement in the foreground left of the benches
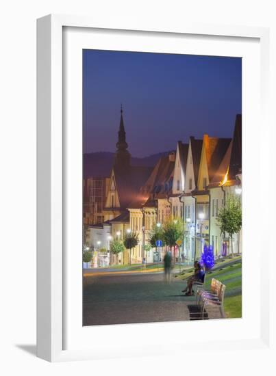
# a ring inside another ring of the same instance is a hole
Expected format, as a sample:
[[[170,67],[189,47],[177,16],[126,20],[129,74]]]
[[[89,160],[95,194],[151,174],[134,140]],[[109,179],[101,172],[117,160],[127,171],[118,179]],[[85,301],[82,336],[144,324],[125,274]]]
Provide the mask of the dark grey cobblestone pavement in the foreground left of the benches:
[[[163,273],[109,273],[84,278],[84,325],[189,320],[185,282]]]

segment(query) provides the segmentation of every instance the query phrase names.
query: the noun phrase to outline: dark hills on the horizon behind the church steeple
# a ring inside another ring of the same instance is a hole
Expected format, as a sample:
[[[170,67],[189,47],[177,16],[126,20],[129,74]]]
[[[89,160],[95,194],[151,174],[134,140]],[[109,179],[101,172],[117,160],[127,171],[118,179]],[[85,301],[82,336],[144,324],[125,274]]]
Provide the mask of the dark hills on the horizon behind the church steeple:
[[[168,153],[169,151],[160,152],[144,158],[133,157],[131,158],[131,165],[153,167],[160,157]],[[113,152],[90,152],[84,154],[84,178],[91,176],[110,176],[113,159]]]

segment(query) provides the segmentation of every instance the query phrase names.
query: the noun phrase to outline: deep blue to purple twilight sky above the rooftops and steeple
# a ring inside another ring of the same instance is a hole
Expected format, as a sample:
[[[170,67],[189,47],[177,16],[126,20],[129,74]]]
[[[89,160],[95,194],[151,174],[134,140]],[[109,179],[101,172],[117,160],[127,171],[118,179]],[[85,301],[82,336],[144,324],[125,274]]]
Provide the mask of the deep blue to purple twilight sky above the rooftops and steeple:
[[[133,157],[190,135],[232,137],[242,109],[238,57],[84,50],[83,67],[84,152],[116,151],[121,103]]]

